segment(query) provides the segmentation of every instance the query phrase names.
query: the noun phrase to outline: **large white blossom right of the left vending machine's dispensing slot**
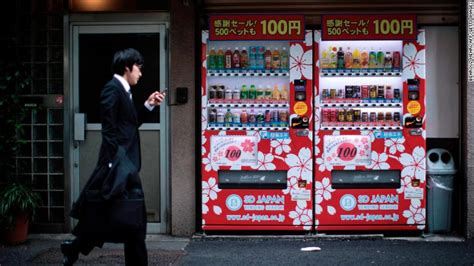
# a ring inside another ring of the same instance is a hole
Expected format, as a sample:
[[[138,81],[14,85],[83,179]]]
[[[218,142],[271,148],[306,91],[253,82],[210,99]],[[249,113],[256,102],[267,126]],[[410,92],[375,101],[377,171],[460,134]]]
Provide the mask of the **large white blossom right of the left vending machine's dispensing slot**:
[[[290,167],[288,176],[297,176],[311,183],[313,179],[313,159],[309,148],[301,148],[298,156],[288,154],[285,163]]]

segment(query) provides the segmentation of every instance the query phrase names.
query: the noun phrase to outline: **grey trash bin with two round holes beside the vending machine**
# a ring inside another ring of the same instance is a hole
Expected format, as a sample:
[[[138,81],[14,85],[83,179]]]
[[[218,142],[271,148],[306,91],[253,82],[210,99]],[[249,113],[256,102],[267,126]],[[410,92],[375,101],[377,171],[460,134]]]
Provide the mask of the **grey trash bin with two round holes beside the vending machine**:
[[[454,168],[453,156],[445,149],[428,151],[428,232],[451,231]]]

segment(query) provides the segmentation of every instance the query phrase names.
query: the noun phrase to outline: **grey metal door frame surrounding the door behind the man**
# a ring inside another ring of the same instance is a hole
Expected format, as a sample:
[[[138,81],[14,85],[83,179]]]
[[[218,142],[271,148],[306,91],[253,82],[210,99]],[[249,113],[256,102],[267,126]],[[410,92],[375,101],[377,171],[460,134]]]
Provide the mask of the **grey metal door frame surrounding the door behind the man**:
[[[109,31],[105,31],[108,28]],[[156,30],[155,30],[156,29]],[[74,114],[79,113],[79,91],[75,77],[78,70],[74,61],[77,58],[79,30],[81,32],[159,32],[160,33],[160,88],[169,84],[167,13],[128,13],[128,14],[69,14],[64,18],[64,150],[65,150],[65,231],[70,231],[77,220],[69,217],[72,203],[78,198],[79,187],[79,148],[74,140]],[[170,232],[170,189],[169,189],[169,107],[160,105],[160,123],[144,124],[140,130],[160,130],[160,222],[148,223],[148,233]],[[87,130],[100,130],[100,124],[93,124]]]

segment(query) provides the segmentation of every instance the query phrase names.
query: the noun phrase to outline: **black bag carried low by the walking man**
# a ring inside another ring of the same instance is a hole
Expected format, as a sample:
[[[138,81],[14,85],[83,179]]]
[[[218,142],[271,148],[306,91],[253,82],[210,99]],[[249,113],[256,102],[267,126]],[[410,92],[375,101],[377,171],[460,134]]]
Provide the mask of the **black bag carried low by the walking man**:
[[[89,233],[134,233],[143,230],[145,217],[143,192],[130,193],[126,199],[104,200],[100,191],[86,193],[81,219]]]

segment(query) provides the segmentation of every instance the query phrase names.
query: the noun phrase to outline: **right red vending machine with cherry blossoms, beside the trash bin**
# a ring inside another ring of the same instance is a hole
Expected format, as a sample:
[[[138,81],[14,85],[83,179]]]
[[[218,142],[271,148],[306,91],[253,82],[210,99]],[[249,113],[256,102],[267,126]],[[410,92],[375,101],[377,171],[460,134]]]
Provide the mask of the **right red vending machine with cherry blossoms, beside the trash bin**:
[[[323,16],[315,32],[315,228],[422,230],[425,33],[415,16]]]

